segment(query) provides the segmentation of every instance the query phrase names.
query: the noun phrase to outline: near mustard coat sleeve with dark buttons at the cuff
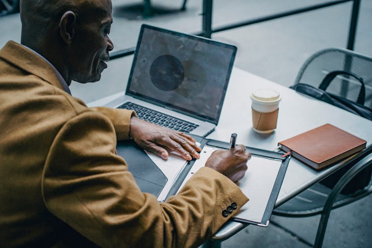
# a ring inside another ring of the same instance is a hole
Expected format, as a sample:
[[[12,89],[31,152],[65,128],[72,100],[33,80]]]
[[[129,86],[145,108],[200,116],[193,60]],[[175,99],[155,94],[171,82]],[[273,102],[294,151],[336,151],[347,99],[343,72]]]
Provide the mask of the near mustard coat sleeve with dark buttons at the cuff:
[[[102,247],[197,247],[247,202],[222,174],[202,168],[167,202],[142,193],[116,154],[110,120],[94,111],[63,125],[42,175],[48,210]],[[235,205],[235,204],[234,204]]]

